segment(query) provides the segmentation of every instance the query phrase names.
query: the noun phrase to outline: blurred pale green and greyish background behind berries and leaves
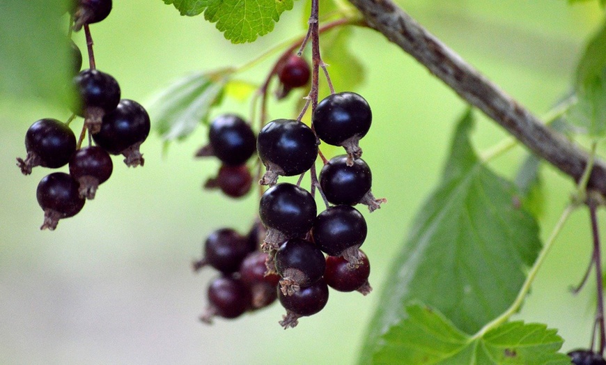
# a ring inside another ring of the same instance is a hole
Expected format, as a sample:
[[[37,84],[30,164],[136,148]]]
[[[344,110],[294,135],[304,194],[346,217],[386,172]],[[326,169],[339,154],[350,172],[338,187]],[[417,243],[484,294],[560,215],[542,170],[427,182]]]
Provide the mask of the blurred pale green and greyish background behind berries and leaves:
[[[124,98],[146,105],[176,77],[246,63],[300,34],[303,5],[295,3],[269,36],[231,45],[202,17],[180,17],[160,0],[114,1],[107,20],[91,26],[97,65],[118,79]],[[402,0],[401,5],[539,116],[566,93],[584,40],[603,20],[597,1],[568,6],[564,0]],[[143,168],[127,169],[114,158],[114,175],[94,201],[56,231],[39,231],[36,186],[49,171],[37,168],[22,176],[15,157],[25,155],[31,123],[65,120],[69,111],[0,95],[0,364],[355,362],[368,320],[381,305],[378,293],[389,280],[391,259],[440,176],[453,123],[465,104],[380,34],[355,29],[354,36],[352,52],[366,68],[366,81],[355,91],[374,114],[362,141],[364,159],[373,169],[373,192],[389,200],[372,215],[364,211],[369,233],[363,248],[371,258],[375,292],[362,297],[332,291],[322,312],[288,331],[277,324],[279,304],[238,320],[199,323],[206,285],[215,273],[194,275],[190,262],[213,229],[247,231],[257,208],[254,194],[231,201],[202,192],[201,184],[218,167],[192,158],[205,142],[204,128],[171,145],[165,156],[160,137],[151,134],[141,148]],[[84,35],[77,33],[75,40],[84,50]],[[242,78],[259,82],[270,67],[268,61]],[[2,72],[10,77],[10,70]],[[229,107],[249,113],[248,103]],[[270,109],[270,118],[282,117],[279,110]],[[481,117],[474,132],[479,150],[504,137]],[[517,148],[492,167],[513,177],[524,155]],[[550,168],[543,169],[543,181],[545,238],[572,185]],[[568,288],[582,277],[590,245],[589,217],[579,211],[516,316],[559,329],[564,350],[589,345],[593,288],[576,297]]]

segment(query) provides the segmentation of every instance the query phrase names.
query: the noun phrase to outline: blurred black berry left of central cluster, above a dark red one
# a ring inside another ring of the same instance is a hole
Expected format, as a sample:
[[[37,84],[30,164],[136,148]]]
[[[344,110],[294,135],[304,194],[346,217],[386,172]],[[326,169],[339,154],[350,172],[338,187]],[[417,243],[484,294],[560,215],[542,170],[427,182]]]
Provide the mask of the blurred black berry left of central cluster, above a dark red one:
[[[224,114],[210,123],[209,145],[196,156],[216,156],[226,165],[244,164],[255,152],[256,138],[250,125],[235,114]]]

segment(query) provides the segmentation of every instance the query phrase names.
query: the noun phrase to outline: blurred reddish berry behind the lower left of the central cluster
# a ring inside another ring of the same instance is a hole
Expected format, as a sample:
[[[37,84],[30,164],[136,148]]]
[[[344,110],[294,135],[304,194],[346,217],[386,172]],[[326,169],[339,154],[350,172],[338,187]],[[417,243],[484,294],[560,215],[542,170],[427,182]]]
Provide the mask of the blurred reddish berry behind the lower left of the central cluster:
[[[276,286],[280,277],[278,274],[267,274],[265,261],[268,255],[265,252],[251,252],[240,265],[240,279],[252,294],[253,309],[260,309],[277,300]]]

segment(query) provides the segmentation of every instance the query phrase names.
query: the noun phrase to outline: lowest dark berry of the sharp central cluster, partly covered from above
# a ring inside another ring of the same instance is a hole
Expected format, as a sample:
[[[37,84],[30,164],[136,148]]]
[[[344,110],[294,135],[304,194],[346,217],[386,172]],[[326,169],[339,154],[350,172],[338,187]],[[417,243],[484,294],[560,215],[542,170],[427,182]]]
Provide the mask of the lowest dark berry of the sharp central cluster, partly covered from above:
[[[283,295],[280,289],[277,291],[278,299],[286,309],[286,316],[283,316],[279,322],[284,329],[295,327],[301,317],[318,313],[328,302],[328,286],[324,279],[320,279],[306,288],[301,288],[293,295]]]

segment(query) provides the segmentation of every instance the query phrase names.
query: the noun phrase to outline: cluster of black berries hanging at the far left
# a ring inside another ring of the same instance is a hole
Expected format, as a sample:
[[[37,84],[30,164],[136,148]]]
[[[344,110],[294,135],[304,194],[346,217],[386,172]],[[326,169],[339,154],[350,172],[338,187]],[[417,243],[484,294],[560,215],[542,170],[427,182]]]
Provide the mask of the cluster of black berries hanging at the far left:
[[[72,8],[73,27],[78,30],[100,22],[110,11],[111,0],[79,0]],[[147,111],[133,100],[121,100],[120,86],[114,77],[94,68],[80,71],[82,56],[73,42],[72,50],[77,73],[77,104],[72,111],[74,116],[84,117],[79,141],[68,123],[40,119],[26,132],[26,158],[17,158],[24,175],[29,175],[34,166],[56,169],[69,164],[70,173],[51,173],[38,184],[36,196],[45,212],[41,229],[54,230],[59,219],[73,217],[84,207],[85,199],[94,199],[98,186],[111,176],[110,154],[125,155],[128,166],[143,165],[139,146],[150,131]],[[86,130],[89,146],[81,148]],[[91,136],[96,146],[92,146]]]

